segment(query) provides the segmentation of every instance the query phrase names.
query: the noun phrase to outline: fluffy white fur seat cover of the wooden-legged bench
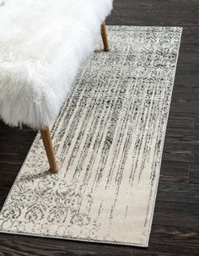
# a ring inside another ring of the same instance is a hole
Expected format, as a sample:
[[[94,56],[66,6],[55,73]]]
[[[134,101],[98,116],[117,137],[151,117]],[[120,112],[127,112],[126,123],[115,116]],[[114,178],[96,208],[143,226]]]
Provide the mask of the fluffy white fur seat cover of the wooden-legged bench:
[[[94,51],[112,0],[2,2],[0,116],[11,126],[46,128]]]

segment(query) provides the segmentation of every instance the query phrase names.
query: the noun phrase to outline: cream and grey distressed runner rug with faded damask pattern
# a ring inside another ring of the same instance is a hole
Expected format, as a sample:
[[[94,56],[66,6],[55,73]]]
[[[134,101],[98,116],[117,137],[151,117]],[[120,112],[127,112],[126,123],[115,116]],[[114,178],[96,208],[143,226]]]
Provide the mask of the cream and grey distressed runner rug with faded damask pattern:
[[[111,52],[99,40],[52,129],[61,171],[38,134],[2,232],[148,246],[181,31],[109,27]]]

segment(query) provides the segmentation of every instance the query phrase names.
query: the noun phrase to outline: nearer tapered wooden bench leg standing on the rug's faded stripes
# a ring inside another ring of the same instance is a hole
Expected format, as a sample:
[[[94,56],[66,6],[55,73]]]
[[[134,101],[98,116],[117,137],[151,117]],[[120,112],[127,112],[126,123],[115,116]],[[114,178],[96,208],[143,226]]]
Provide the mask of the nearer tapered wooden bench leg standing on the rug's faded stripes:
[[[55,157],[53,145],[51,142],[50,129],[49,128],[46,128],[44,130],[40,129],[40,134],[41,134],[41,138],[43,140],[44,146],[45,146],[46,155],[47,155],[48,162],[50,165],[49,172],[56,173],[56,172],[58,172],[59,168],[56,164],[56,157]]]

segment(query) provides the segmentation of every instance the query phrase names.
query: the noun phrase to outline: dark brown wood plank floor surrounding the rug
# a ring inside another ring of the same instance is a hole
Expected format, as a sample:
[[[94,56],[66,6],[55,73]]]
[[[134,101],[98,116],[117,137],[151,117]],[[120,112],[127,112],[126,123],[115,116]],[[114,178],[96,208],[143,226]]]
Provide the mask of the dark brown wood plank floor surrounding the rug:
[[[0,235],[0,255],[199,255],[199,1],[115,0],[107,24],[184,28],[149,247]],[[1,205],[34,137],[0,123]]]

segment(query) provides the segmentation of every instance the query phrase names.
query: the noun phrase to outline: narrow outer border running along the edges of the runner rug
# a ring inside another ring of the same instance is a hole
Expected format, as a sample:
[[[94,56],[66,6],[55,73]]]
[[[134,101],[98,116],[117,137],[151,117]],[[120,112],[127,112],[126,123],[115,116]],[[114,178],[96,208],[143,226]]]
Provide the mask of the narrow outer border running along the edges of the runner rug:
[[[170,101],[169,101],[169,112],[170,112],[170,106],[171,106],[171,100],[172,100],[172,95],[173,95],[173,90],[174,90],[174,84],[175,84],[175,76],[176,76],[176,69],[177,69],[177,64],[178,64],[178,61],[179,61],[179,54],[180,54],[180,45],[181,45],[181,37],[182,37],[182,32],[183,32],[183,27],[180,27],[180,26],[132,26],[132,25],[107,25],[108,29],[110,27],[152,27],[152,28],[179,28],[180,29],[180,43],[179,43],[179,47],[178,47],[178,53],[177,53],[177,60],[176,60],[176,63],[175,63],[175,74],[174,74],[174,79],[173,79],[173,83],[172,83],[172,90],[171,90],[171,94],[170,94]],[[68,94],[69,96],[69,94]],[[62,111],[62,109],[61,109]],[[129,242],[109,242],[109,241],[101,241],[101,240],[94,240],[94,239],[79,239],[79,238],[73,238],[73,237],[56,237],[56,236],[48,236],[48,235],[37,235],[37,234],[33,234],[33,233],[26,233],[26,232],[14,232],[14,231],[2,231],[0,229],[0,233],[2,234],[11,234],[11,235],[19,235],[19,236],[26,236],[26,237],[42,237],[42,238],[52,238],[52,239],[60,239],[60,240],[68,240],[68,241],[74,241],[74,242],[92,242],[92,243],[105,243],[105,244],[114,244],[114,245],[126,245],[126,246],[134,246],[134,247],[141,247],[141,248],[148,248],[148,243],[149,243],[149,237],[150,237],[150,233],[151,233],[151,229],[152,229],[152,223],[153,223],[153,215],[154,215],[154,209],[155,209],[155,204],[156,204],[156,199],[157,199],[157,193],[158,193],[158,188],[159,188],[159,177],[160,177],[160,169],[161,169],[161,164],[162,164],[162,157],[163,157],[163,150],[164,150],[164,140],[165,140],[165,135],[166,135],[166,130],[167,130],[167,125],[168,125],[168,120],[169,120],[169,112],[168,112],[168,116],[167,116],[167,119],[166,119],[166,128],[164,130],[164,136],[163,136],[163,144],[161,146],[161,155],[160,155],[160,165],[159,165],[159,173],[158,173],[158,182],[156,184],[156,187],[155,187],[155,196],[154,196],[154,199],[153,199],[153,206],[152,206],[152,213],[150,215],[150,221],[149,221],[149,228],[148,228],[148,235],[147,235],[147,240],[146,242],[143,242],[143,243],[129,243]],[[55,121],[56,123],[56,121]],[[51,130],[54,128],[54,124],[52,125],[52,128]],[[36,135],[35,135],[35,139],[33,140],[31,146],[30,146],[30,150],[28,151],[27,155],[25,156],[24,158],[24,162],[22,164],[22,166],[20,167],[19,169],[19,172],[17,174],[17,176],[15,177],[14,181],[13,181],[13,185],[11,186],[9,192],[8,192],[8,195],[3,203],[3,206],[0,210],[0,212],[2,212],[3,208],[4,208],[4,205],[7,203],[7,200],[8,200],[8,197],[13,189],[13,186],[15,184],[15,182],[17,181],[18,177],[19,177],[19,174],[24,166],[24,163],[27,159],[27,157],[29,156],[30,154],[30,151],[32,150],[32,147],[35,143],[35,140],[38,139],[38,137],[40,137],[40,132],[38,132]]]

